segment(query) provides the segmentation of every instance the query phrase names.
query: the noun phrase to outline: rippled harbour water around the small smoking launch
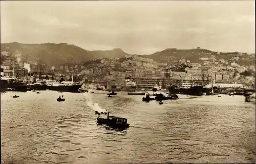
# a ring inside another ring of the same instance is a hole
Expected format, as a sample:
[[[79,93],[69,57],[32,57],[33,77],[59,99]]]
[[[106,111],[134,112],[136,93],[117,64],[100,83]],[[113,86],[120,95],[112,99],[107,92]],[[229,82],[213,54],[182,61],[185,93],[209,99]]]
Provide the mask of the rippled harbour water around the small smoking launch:
[[[128,119],[123,131],[96,124],[82,93],[1,93],[5,163],[246,163],[255,158],[255,106],[243,96],[142,102],[142,96],[91,94]],[[99,93],[99,92],[98,92]],[[12,98],[13,95],[19,98]]]

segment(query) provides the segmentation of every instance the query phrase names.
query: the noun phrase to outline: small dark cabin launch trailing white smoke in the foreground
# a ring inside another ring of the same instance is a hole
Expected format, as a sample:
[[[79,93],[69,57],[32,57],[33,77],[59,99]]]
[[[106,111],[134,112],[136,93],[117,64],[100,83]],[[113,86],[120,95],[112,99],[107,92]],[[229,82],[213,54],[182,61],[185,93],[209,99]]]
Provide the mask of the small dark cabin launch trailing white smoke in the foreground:
[[[130,124],[127,123],[126,118],[116,117],[116,116],[109,116],[109,112],[107,118],[100,118],[98,116],[97,123],[98,124],[105,124],[113,128],[127,128]]]

